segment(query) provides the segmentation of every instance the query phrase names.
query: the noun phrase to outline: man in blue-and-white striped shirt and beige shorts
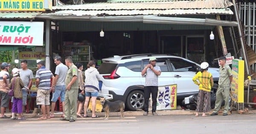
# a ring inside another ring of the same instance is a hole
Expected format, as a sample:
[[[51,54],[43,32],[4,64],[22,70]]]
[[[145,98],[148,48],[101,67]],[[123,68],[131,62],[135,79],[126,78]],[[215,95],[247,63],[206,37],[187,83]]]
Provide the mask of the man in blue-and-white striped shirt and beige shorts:
[[[36,104],[41,105],[41,111],[43,113],[42,117],[38,119],[50,119],[50,85],[51,78],[54,79],[54,76],[51,71],[45,68],[44,62],[39,61],[37,63],[38,71],[36,71],[35,75],[35,85],[38,88]]]

